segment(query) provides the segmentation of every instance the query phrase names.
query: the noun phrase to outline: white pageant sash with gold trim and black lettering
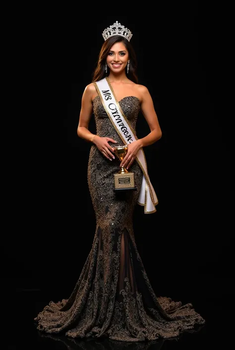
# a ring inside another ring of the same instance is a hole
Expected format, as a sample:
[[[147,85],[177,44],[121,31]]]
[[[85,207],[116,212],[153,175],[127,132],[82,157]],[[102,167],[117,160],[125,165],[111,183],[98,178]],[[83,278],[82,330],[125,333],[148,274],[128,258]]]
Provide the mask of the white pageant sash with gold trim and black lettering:
[[[101,98],[105,111],[113,123],[117,134],[123,141],[123,144],[138,140],[119,106],[109,79],[106,77],[94,82],[94,85]],[[143,171],[143,179],[137,203],[144,206],[145,214],[151,214],[156,211],[155,206],[158,204],[158,199],[148,176],[147,163],[142,148],[138,150],[135,160]]]

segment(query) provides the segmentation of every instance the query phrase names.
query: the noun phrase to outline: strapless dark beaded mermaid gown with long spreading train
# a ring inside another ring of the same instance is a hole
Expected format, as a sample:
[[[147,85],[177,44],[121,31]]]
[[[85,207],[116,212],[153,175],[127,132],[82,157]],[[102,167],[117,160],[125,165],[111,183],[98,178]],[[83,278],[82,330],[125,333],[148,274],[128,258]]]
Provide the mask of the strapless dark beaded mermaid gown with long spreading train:
[[[133,130],[139,99],[126,96],[119,106]],[[123,144],[99,96],[93,100],[97,135]],[[110,143],[114,145],[114,143]],[[108,160],[95,145],[88,161],[88,186],[96,214],[92,249],[68,299],[51,301],[35,318],[37,329],[71,338],[109,337],[139,342],[172,338],[204,319],[190,303],[157,297],[139,256],[132,223],[142,170],[132,163],[137,191],[119,198],[113,191],[120,161]]]

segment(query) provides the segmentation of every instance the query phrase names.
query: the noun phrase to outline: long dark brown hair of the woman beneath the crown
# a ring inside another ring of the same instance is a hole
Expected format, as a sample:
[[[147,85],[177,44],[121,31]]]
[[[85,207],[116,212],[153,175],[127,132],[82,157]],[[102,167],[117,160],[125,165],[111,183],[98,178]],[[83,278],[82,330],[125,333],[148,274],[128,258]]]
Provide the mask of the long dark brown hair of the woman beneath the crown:
[[[131,46],[131,44],[129,43],[129,41],[120,35],[114,35],[114,36],[110,37],[102,45],[102,48],[101,48],[100,53],[99,53],[98,64],[97,64],[97,67],[93,73],[92,82],[101,80],[106,75],[108,75],[109,67],[108,67],[107,74],[105,72],[106,58],[110,52],[111,47],[115,43],[119,43],[119,42],[122,42],[125,45],[126,50],[128,51],[128,54],[129,54],[130,65],[129,65],[128,74],[126,74],[126,75],[130,80],[132,80],[136,84],[138,83],[138,77],[136,75],[137,61],[136,61],[136,55],[135,55],[134,49]]]

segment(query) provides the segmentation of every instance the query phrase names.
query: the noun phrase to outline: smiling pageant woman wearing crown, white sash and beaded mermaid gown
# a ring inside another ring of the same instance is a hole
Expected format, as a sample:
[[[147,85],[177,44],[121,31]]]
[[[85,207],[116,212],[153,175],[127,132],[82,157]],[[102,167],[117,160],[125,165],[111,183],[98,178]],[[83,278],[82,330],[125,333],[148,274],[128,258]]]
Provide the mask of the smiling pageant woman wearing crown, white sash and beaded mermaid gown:
[[[94,78],[82,96],[77,134],[93,143],[88,185],[97,226],[92,250],[69,299],[51,301],[35,319],[38,329],[47,333],[138,342],[176,337],[205,322],[191,304],[182,306],[155,295],[135,244],[135,205],[152,213],[158,203],[142,147],[159,140],[162,132],[148,89],[137,84],[131,36],[117,22],[103,32],[105,42]],[[140,110],[150,133],[138,140],[135,125]],[[96,135],[88,130],[93,112]],[[114,147],[125,144],[127,153],[120,162]],[[120,166],[134,173],[135,187],[119,196],[114,176]]]

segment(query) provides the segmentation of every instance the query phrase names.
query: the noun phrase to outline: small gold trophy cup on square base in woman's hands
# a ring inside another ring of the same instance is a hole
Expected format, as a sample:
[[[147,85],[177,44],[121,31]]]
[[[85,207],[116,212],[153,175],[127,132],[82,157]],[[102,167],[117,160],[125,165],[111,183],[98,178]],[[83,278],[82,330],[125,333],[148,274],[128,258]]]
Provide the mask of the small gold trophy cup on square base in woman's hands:
[[[128,147],[124,146],[114,146],[114,153],[117,158],[122,161],[125,157]],[[132,171],[126,170],[123,166],[118,173],[114,174],[114,191],[129,191],[136,190],[136,186],[134,184],[134,173]]]

